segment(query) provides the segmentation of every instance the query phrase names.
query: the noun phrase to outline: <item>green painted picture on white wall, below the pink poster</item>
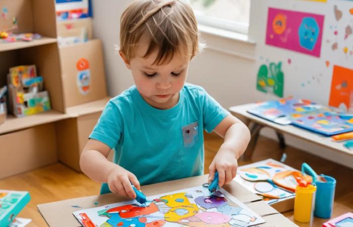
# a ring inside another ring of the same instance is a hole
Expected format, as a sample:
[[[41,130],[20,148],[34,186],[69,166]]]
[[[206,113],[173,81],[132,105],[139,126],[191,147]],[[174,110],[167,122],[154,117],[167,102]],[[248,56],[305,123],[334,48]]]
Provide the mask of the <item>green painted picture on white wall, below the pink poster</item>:
[[[283,97],[284,74],[281,67],[282,62],[277,65],[270,63],[268,67],[267,65],[261,65],[257,73],[256,89]]]

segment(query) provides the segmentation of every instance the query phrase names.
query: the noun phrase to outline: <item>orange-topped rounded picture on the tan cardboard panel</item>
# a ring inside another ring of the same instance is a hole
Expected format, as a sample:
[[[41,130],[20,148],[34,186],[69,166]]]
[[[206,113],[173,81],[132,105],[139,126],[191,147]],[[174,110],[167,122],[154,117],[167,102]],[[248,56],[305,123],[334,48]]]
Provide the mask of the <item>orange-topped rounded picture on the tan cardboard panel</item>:
[[[87,95],[89,92],[89,85],[91,83],[91,72],[89,70],[89,62],[87,59],[80,59],[76,63],[77,73],[77,88],[80,93]]]

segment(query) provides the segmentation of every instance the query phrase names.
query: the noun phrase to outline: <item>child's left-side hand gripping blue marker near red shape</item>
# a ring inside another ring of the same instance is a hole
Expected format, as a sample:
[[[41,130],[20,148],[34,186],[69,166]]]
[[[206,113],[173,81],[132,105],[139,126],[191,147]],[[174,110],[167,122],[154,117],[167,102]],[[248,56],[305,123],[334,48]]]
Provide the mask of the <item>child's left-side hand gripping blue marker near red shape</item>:
[[[130,182],[137,188],[137,190],[140,190],[140,183],[136,176],[121,166],[114,168],[107,177],[107,183],[111,192],[135,199],[136,193]]]

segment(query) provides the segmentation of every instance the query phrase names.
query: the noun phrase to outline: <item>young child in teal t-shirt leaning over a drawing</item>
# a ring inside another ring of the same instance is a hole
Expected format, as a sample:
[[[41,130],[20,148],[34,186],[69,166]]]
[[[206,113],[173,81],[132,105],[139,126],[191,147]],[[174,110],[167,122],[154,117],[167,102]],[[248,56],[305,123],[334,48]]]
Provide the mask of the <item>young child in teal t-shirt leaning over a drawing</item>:
[[[110,99],[84,147],[80,166],[103,182],[101,194],[135,198],[141,185],[202,175],[203,131],[224,138],[211,165],[219,186],[236,177],[250,133],[200,86],[186,83],[199,51],[194,13],[186,3],[137,0],[121,17],[120,55],[135,86]],[[114,160],[107,160],[114,149]]]

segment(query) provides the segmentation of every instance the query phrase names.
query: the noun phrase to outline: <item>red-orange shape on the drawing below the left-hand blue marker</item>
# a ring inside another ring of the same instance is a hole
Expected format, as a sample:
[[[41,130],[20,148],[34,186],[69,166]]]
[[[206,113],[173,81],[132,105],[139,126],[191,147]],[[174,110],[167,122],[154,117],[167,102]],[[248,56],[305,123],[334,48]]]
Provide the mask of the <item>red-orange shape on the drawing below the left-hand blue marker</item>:
[[[131,217],[137,217],[140,215],[151,214],[157,211],[158,211],[158,207],[154,203],[151,203],[147,207],[140,207],[140,206],[134,206],[134,205],[119,206],[119,207],[111,208],[106,212],[109,214],[111,214],[112,212],[119,212],[122,218],[131,218]]]

